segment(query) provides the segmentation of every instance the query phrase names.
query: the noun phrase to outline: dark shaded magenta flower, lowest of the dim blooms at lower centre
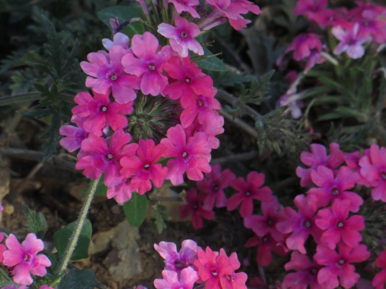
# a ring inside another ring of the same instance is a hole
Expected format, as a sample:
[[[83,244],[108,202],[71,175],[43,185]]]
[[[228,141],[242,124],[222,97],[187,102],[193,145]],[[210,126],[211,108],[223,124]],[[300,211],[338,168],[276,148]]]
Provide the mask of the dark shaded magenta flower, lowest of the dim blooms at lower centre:
[[[269,233],[262,237],[254,236],[249,238],[244,246],[257,246],[256,261],[259,266],[268,266],[272,262],[271,251],[279,256],[285,256],[288,251],[283,243],[275,241]]]

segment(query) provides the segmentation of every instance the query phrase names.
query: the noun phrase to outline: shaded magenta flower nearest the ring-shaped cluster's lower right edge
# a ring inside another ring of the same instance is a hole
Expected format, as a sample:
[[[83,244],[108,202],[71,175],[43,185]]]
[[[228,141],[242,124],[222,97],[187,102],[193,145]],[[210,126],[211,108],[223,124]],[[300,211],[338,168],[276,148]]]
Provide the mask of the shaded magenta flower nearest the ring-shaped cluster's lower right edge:
[[[196,183],[200,192],[207,194],[204,207],[210,210],[215,204],[216,207],[226,205],[227,198],[224,189],[236,178],[230,169],[221,170],[219,163],[212,164],[211,167],[212,171],[205,173],[204,178]]]

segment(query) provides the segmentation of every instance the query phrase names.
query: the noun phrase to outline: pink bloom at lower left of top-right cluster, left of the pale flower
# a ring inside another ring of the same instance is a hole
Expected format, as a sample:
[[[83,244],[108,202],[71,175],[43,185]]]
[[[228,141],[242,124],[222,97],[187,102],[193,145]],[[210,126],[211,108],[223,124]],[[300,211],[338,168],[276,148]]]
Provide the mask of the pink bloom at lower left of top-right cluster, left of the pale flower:
[[[293,59],[299,61],[309,57],[312,50],[321,51],[322,43],[314,33],[302,33],[293,39],[292,43],[285,50],[285,53],[293,51]]]

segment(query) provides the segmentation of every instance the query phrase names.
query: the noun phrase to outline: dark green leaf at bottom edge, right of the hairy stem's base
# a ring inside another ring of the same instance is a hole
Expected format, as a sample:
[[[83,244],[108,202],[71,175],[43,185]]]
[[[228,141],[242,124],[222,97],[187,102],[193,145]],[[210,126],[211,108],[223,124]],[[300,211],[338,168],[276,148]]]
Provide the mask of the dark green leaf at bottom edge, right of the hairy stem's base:
[[[97,284],[95,273],[90,269],[71,269],[59,284],[58,289],[93,289]]]

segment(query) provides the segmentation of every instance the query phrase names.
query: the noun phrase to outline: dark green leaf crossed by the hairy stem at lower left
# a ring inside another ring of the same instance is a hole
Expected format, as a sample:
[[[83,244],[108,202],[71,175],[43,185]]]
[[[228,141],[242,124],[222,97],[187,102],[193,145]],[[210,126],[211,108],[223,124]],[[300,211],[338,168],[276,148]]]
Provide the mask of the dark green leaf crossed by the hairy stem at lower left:
[[[77,221],[73,221],[69,223],[67,226],[65,226],[64,228],[61,228],[59,231],[56,231],[54,233],[54,244],[61,257],[63,257],[66,251],[67,244],[70,241],[76,222]],[[91,222],[89,219],[86,219],[81,231],[81,235],[78,240],[78,244],[75,247],[73,255],[71,256],[71,260],[79,260],[79,259],[87,258],[89,256],[88,250],[89,250],[92,232],[93,232],[93,228],[91,226]],[[73,288],[78,288],[78,287],[73,287]]]

